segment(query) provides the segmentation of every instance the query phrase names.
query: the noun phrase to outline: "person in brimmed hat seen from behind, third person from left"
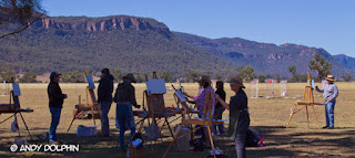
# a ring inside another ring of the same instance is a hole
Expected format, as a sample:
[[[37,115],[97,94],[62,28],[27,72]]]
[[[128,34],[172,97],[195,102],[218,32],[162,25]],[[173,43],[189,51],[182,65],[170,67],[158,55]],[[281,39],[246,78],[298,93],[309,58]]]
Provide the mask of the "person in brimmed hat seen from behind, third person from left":
[[[131,83],[136,83],[132,73],[122,77],[123,82],[118,85],[113,101],[116,103],[116,127],[120,128],[120,147],[125,150],[124,131],[131,129],[131,137],[135,134],[135,124],[132,106],[140,108],[135,102],[134,87]]]

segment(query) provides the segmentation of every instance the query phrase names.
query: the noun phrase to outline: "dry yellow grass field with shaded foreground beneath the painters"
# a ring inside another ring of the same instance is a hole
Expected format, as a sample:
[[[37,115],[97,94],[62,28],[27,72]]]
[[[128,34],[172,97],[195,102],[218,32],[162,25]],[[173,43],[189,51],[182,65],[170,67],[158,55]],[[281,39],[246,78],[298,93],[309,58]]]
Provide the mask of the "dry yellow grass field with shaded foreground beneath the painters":
[[[251,127],[258,130],[264,136],[264,147],[246,148],[247,157],[355,157],[355,83],[336,83],[339,89],[339,96],[335,106],[335,129],[317,129],[317,124],[313,114],[310,117],[310,128],[306,123],[305,110],[294,115],[291,127],[285,128],[290,109],[294,101],[301,98],[250,98],[248,107],[251,114]],[[64,101],[64,107],[61,114],[60,125],[58,127],[58,138],[68,145],[80,145],[79,152],[11,152],[10,146],[18,133],[11,133],[10,119],[0,125],[0,157],[124,157],[124,152],[115,147],[119,130],[115,129],[115,105],[112,104],[109,114],[112,135],[110,137],[77,137],[75,128],[78,125],[92,126],[92,120],[78,119],[74,122],[71,130],[67,128],[72,119],[72,110],[78,104],[78,96],[85,101],[87,84],[60,84],[63,93],[69,95]],[[170,85],[170,84],[166,84]],[[305,83],[288,84],[288,95],[301,97],[303,95]],[[116,86],[116,84],[115,84]],[[144,84],[135,84],[136,99],[142,103],[142,92]],[[178,86],[178,84],[175,85]],[[196,84],[183,84],[185,92],[196,94]],[[22,108],[33,108],[33,113],[23,113],[23,117],[30,128],[34,140],[30,138],[24,130],[22,122],[19,120],[21,136],[28,138],[29,144],[47,144],[39,140],[36,136],[43,135],[50,126],[50,113],[48,108],[47,84],[21,84],[20,103]],[[227,102],[233,94],[229,84],[225,84]],[[169,91],[164,95],[165,106],[175,105],[173,92]],[[248,84],[246,84],[246,94],[248,95]],[[260,84],[260,94],[266,96],[266,85]],[[275,94],[280,95],[278,85],[275,85]],[[315,101],[322,102],[323,97],[315,92]],[[9,97],[0,97],[0,103],[8,103]],[[324,106],[315,106],[321,127],[325,125]],[[311,110],[312,112],[312,110]],[[1,114],[0,119],[9,117],[10,114]],[[224,119],[227,119],[229,113],[224,113]],[[138,119],[138,118],[135,118]],[[174,122],[179,124],[178,122]],[[100,120],[97,119],[100,126]],[[99,127],[100,130],[100,127]],[[169,136],[169,130],[163,130],[163,135]],[[126,131],[126,137],[129,131]],[[164,141],[155,144],[149,143],[146,147],[146,157],[162,157],[168,148],[171,137],[164,137]],[[233,140],[230,138],[214,137],[215,146],[220,147],[230,157],[235,157]],[[170,151],[168,157],[195,157],[204,158],[207,150],[199,152],[175,152]]]

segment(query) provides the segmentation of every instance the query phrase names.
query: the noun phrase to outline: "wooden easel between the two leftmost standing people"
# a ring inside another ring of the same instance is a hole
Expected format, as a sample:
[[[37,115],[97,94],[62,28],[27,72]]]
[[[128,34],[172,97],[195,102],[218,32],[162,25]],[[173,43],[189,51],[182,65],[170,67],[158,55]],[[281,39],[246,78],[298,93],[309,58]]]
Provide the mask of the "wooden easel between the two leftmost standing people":
[[[91,76],[87,76],[87,81],[89,83],[89,86],[87,86],[87,104],[81,104],[81,96],[79,96],[79,104],[75,105],[74,116],[69,125],[67,133],[69,133],[73,122],[79,117],[85,115],[88,112],[91,112],[93,126],[97,126],[95,118],[100,118],[100,106],[99,106],[95,93],[93,92],[94,86],[93,86],[93,83],[91,83],[92,78],[91,81],[90,78]],[[89,96],[90,96],[91,103],[89,103]]]

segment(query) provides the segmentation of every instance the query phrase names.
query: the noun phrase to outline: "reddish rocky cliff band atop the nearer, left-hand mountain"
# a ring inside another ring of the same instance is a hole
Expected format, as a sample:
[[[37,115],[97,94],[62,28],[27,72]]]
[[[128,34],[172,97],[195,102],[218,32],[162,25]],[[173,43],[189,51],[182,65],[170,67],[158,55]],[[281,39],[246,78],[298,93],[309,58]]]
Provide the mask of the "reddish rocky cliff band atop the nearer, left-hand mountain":
[[[65,19],[65,20],[64,20]],[[43,18],[37,21],[31,28],[45,28],[45,29],[64,29],[64,30],[85,30],[85,31],[110,31],[110,30],[153,30],[160,33],[169,34],[169,28],[155,20],[115,15],[104,18],[87,18],[87,17],[55,17]]]

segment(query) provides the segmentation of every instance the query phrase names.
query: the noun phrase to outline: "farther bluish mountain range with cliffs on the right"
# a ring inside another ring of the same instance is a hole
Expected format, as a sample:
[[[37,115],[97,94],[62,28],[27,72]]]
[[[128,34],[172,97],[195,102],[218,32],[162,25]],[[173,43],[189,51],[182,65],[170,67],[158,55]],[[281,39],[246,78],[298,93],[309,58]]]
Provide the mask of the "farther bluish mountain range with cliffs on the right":
[[[264,74],[290,76],[291,73],[287,67],[291,65],[296,65],[296,73],[312,73],[308,69],[308,64],[310,61],[314,59],[315,53],[323,55],[326,61],[333,63],[332,73],[335,75],[341,76],[345,73],[354,74],[351,69],[355,67],[355,59],[353,62],[354,65],[352,65],[352,60],[345,60],[344,57],[335,60],[335,57],[324,49],[296,44],[275,45],[240,38],[207,39],[180,32],[174,32],[174,34],[187,43],[215,56],[230,61],[239,66],[251,65],[256,72]],[[345,65],[346,63],[348,66]],[[314,73],[314,75],[316,74]]]

